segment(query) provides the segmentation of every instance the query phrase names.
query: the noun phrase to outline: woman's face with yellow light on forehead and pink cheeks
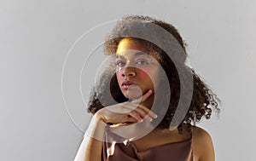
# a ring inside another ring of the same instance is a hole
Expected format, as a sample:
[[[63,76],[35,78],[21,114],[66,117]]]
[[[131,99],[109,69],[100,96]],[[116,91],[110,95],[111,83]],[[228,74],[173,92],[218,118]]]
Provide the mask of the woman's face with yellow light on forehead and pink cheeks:
[[[116,76],[123,95],[129,99],[142,96],[158,86],[160,67],[156,56],[151,56],[141,43],[122,39],[116,52]]]

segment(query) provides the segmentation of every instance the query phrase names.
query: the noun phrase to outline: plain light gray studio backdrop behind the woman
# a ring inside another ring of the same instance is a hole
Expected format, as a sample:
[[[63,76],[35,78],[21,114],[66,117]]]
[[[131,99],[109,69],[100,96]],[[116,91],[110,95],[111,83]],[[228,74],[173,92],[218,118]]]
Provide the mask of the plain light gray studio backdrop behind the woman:
[[[253,161],[255,9],[250,0],[1,0],[0,160],[73,160],[104,66],[101,43],[113,26],[102,23],[144,14],[177,26],[188,64],[222,99],[219,118],[200,124],[216,160]]]

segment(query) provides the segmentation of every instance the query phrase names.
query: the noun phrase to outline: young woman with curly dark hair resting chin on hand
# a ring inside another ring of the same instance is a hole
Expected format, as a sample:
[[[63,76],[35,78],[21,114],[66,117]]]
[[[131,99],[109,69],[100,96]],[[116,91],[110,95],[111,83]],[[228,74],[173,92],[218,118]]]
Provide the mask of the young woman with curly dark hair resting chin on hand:
[[[132,15],[104,43],[110,64],[92,90],[94,114],[75,160],[213,161],[211,136],[195,126],[218,98],[185,65],[177,29]]]

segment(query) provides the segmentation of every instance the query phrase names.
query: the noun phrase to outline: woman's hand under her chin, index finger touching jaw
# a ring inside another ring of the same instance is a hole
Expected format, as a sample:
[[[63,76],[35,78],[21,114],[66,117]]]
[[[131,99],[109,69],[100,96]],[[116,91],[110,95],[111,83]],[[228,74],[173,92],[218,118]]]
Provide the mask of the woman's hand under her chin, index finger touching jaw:
[[[152,94],[149,89],[145,95],[133,101],[126,101],[113,106],[106,106],[96,112],[95,117],[101,119],[105,123],[123,124],[127,122],[143,122],[143,118],[152,121],[152,118],[157,118],[154,112],[151,112],[148,107],[141,105]]]

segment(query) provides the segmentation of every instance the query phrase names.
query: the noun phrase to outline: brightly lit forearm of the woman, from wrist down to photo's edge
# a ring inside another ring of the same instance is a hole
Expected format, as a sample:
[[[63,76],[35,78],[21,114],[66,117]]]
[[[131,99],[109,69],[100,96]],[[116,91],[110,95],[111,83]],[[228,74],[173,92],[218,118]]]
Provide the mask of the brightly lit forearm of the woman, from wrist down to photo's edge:
[[[106,124],[95,116],[84,134],[84,139],[79,147],[75,161],[101,161],[102,138]]]

